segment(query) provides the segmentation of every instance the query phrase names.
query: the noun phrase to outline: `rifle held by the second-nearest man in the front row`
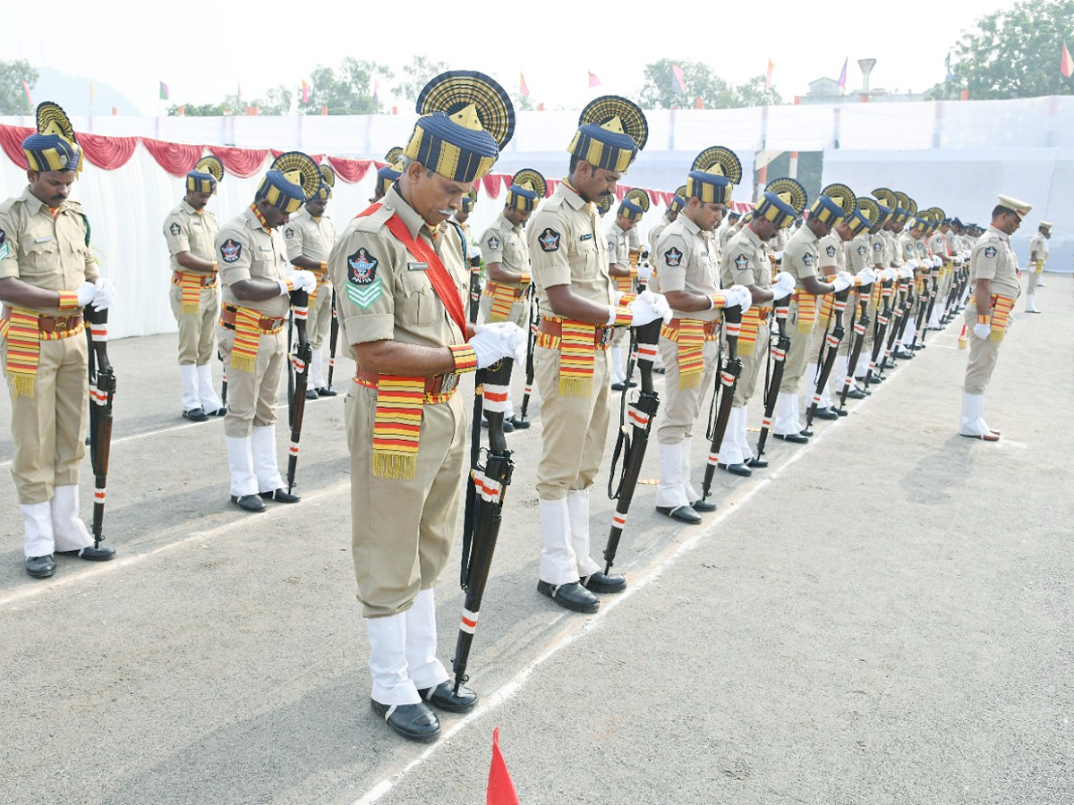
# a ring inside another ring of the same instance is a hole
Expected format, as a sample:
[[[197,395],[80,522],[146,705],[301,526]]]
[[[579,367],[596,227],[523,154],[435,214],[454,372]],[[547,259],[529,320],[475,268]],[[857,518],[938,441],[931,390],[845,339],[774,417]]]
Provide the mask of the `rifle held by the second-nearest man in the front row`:
[[[656,411],[661,407],[661,398],[653,389],[653,361],[656,360],[656,342],[659,340],[663,324],[664,322],[661,319],[656,319],[656,321],[649,322],[649,324],[630,328],[630,340],[637,345],[638,372],[641,376],[641,387],[638,392],[638,399],[627,407],[627,385],[626,383],[623,385],[623,402],[620,407],[619,419],[619,440],[615,442],[615,452],[611,459],[611,471],[608,473],[608,497],[615,500],[616,503],[615,513],[611,518],[611,530],[608,532],[608,543],[605,545],[605,573],[611,570],[611,566],[615,561],[615,553],[619,551],[619,540],[623,536],[626,515],[630,511],[634,491],[638,486],[638,477],[641,474],[641,463],[645,457],[645,448],[649,445],[649,434],[653,427],[653,418],[656,416]],[[630,357],[626,362],[627,382],[630,380],[633,370],[634,360]],[[627,419],[630,421],[629,428],[626,425]],[[633,438],[630,431],[633,431]],[[623,456],[623,472],[620,477],[619,488],[613,493],[611,479],[615,475],[615,463],[620,455]]]

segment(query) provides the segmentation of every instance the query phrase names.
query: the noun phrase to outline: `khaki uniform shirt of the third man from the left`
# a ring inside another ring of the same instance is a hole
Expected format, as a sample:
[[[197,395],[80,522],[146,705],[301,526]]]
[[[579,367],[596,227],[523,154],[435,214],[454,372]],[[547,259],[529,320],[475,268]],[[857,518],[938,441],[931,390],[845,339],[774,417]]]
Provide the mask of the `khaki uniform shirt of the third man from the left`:
[[[267,299],[237,299],[231,286],[244,279],[287,279],[290,264],[284,250],[284,237],[276,231],[265,232],[250,207],[228,221],[216,235],[216,262],[220,266],[223,302],[227,305],[257,310],[264,317],[287,316],[290,299],[287,294]]]

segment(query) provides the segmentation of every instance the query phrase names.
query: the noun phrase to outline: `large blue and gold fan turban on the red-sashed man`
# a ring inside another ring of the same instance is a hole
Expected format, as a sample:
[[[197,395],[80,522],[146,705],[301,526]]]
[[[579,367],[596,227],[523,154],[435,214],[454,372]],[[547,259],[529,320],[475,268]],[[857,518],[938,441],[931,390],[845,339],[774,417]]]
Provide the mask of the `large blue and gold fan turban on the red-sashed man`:
[[[449,70],[418,96],[418,122],[405,153],[452,181],[484,176],[514,133],[514,106],[495,80]]]

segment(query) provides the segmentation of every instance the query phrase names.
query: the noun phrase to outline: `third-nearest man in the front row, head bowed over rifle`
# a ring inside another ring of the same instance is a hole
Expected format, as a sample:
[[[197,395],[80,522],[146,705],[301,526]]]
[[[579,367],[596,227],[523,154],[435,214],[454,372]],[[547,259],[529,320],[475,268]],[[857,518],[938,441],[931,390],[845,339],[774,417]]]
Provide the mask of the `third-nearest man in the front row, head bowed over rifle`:
[[[742,163],[728,148],[712,146],[694,160],[686,177],[686,206],[656,244],[661,292],[671,321],[661,332],[659,351],[667,374],[666,401],[656,427],[661,482],[656,511],[682,523],[699,524],[706,501],[691,483],[691,440],[701,397],[719,369],[720,316],[724,307],[748,309],[744,286],[720,290],[710,239],[742,179]]]

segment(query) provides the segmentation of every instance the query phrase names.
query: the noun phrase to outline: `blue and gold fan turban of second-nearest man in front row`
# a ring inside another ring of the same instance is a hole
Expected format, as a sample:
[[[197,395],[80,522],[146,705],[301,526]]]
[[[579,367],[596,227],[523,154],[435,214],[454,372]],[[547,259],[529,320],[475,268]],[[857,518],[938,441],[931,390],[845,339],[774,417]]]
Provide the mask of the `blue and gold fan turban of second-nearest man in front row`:
[[[567,152],[594,167],[622,173],[648,140],[649,123],[638,104],[603,96],[582,109]]]

